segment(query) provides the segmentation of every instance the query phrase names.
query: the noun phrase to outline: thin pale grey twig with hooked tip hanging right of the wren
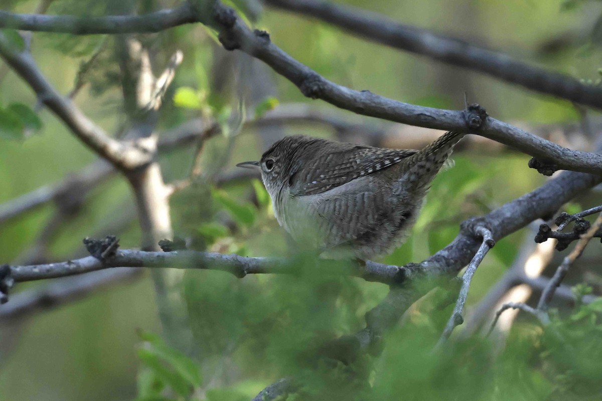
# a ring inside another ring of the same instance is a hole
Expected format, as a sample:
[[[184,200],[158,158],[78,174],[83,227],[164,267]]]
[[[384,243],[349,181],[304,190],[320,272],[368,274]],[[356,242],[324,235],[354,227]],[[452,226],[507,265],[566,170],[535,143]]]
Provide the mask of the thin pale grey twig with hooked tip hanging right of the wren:
[[[483,258],[489,252],[489,249],[493,248],[495,245],[495,241],[492,237],[491,231],[485,227],[476,227],[475,233],[479,234],[483,238],[483,242],[479,247],[479,250],[476,254],[474,254],[473,260],[468,264],[464,275],[462,275],[462,287],[460,289],[460,295],[458,296],[458,301],[456,301],[456,306],[453,308],[452,317],[445,325],[445,329],[443,334],[441,334],[441,338],[439,338],[438,346],[441,346],[447,339],[452,335],[453,329],[464,323],[464,318],[462,317],[462,312],[464,311],[464,304],[466,303],[466,299],[468,298],[468,290],[470,290],[470,283],[473,281],[474,274],[477,271],[477,268],[483,262]]]

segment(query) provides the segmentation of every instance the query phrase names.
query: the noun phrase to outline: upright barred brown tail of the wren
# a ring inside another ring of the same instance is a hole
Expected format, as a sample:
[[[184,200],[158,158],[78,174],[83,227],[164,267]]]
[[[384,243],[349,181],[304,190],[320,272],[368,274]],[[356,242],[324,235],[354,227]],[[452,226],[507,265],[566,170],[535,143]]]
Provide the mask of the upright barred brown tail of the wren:
[[[407,172],[403,179],[407,183],[408,189],[415,191],[427,189],[452,155],[453,147],[464,138],[464,135],[461,132],[447,132],[420,152],[406,159],[405,170],[407,169]]]

